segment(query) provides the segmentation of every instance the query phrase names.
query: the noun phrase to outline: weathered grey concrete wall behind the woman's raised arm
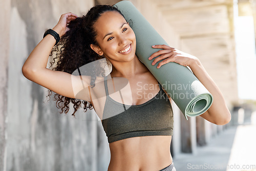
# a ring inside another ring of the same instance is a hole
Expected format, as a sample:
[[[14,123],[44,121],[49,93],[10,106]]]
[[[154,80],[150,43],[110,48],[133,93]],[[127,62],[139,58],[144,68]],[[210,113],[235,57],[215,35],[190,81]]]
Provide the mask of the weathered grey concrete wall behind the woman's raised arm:
[[[80,109],[75,119],[71,116],[71,105],[67,115],[59,114],[53,95],[49,100],[47,89],[22,74],[26,58],[42,39],[45,30],[57,24],[62,13],[73,12],[81,16],[92,6],[94,1],[11,1],[10,15],[1,22],[8,24],[9,21],[10,28],[6,27],[6,33],[12,33],[6,34],[5,41],[1,41],[9,46],[10,40],[9,66],[8,58],[4,60],[1,56],[1,66],[4,66],[1,67],[4,70],[1,77],[5,81],[7,76],[4,74],[8,70],[8,89],[6,83],[1,84],[4,86],[1,95],[6,96],[3,92],[7,92],[8,103],[0,102],[6,105],[8,113],[5,171],[107,170],[110,160],[108,141],[94,110],[84,113]],[[8,56],[7,51],[5,53]],[[5,114],[0,114],[1,123]],[[2,137],[3,134],[0,142],[4,143]],[[0,166],[4,161],[3,149],[1,145]]]

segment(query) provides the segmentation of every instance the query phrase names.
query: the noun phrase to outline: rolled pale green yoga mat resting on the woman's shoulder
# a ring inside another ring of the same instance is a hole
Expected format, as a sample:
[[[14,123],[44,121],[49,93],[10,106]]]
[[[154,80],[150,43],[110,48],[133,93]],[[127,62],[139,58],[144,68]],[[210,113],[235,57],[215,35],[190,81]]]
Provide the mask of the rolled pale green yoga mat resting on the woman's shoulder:
[[[121,1],[114,6],[122,12],[136,35],[136,55],[174,100],[186,120],[187,116],[199,116],[206,112],[213,97],[187,67],[169,62],[157,69],[163,59],[152,66],[153,60],[148,57],[160,50],[152,46],[168,45],[153,26],[131,2]]]

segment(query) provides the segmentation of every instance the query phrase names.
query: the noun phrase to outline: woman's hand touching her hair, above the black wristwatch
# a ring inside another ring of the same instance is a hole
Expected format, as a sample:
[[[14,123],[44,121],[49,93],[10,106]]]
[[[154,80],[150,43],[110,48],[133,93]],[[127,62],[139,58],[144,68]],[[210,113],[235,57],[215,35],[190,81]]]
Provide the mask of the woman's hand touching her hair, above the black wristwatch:
[[[69,31],[67,24],[69,24],[71,20],[74,20],[77,17],[78,16],[76,14],[73,14],[71,12],[62,14],[59,18],[58,24],[52,30],[56,31],[59,34],[59,37],[61,37],[67,31]]]

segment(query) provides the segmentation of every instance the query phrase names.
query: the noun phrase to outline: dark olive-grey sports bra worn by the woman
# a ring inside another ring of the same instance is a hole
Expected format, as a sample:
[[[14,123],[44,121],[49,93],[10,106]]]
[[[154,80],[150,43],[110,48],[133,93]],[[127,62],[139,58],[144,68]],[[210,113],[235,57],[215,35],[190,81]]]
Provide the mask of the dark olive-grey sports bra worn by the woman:
[[[109,96],[106,77],[102,125],[109,143],[131,137],[173,135],[172,104],[159,82],[160,91],[155,97],[143,104],[126,105]]]

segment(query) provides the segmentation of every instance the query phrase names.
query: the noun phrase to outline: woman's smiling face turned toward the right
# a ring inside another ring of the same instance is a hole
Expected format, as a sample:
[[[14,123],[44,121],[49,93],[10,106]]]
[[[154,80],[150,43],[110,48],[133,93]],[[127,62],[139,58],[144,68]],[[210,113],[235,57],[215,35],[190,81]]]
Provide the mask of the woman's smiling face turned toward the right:
[[[116,11],[104,12],[94,25],[97,32],[96,51],[111,62],[131,61],[135,56],[136,38],[132,28]]]

